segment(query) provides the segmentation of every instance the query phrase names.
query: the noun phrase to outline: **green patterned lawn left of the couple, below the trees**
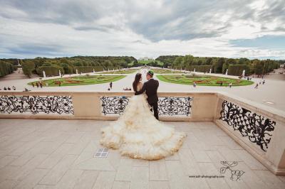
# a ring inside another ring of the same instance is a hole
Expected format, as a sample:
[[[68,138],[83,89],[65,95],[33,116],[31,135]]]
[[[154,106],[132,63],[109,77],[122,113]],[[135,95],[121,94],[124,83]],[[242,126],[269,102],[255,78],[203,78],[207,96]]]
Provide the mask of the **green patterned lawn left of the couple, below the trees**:
[[[105,82],[115,82],[123,79],[125,75],[84,75],[76,77],[63,77],[53,80],[39,80],[43,83],[43,87],[58,87],[58,81],[61,82],[61,86],[74,86],[74,85],[94,85]],[[48,86],[46,86],[46,83]],[[31,85],[29,82],[28,85]]]

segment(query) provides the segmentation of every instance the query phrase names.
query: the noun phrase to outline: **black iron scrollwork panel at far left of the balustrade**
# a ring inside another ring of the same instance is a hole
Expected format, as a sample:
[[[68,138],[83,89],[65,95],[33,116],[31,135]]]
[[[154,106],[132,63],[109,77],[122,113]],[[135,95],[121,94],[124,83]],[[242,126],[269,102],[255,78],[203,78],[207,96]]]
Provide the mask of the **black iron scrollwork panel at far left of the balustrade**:
[[[70,96],[0,96],[0,112],[74,114],[74,109]]]

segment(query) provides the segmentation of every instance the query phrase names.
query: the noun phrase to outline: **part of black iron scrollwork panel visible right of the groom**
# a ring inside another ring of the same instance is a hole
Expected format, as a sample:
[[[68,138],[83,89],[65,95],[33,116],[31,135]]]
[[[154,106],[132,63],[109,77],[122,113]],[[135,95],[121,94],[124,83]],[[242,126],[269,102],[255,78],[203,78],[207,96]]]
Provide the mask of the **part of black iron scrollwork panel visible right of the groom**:
[[[192,97],[160,97],[158,114],[160,115],[190,115]]]

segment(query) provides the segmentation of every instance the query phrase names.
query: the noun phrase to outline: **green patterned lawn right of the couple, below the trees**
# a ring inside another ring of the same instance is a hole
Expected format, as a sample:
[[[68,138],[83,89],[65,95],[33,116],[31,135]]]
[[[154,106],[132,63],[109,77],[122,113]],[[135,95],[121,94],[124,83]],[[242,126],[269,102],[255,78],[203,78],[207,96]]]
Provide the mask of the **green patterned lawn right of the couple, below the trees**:
[[[254,82],[248,80],[239,80],[226,77],[214,77],[207,75],[157,75],[157,78],[164,82],[172,82],[182,85],[196,85],[203,86],[222,86],[227,87],[232,82],[232,86],[252,85]]]

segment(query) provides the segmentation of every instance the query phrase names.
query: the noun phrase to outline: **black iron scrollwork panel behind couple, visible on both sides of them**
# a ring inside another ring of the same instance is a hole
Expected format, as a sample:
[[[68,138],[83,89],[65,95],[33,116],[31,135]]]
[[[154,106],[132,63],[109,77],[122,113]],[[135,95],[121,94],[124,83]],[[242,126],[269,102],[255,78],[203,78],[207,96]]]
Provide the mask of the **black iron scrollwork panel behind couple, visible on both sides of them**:
[[[130,97],[101,97],[102,113],[122,114]],[[160,115],[184,115],[188,117],[191,110],[192,97],[159,97],[158,112]]]

